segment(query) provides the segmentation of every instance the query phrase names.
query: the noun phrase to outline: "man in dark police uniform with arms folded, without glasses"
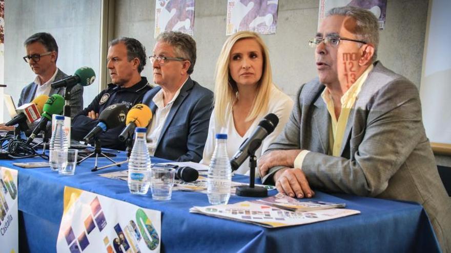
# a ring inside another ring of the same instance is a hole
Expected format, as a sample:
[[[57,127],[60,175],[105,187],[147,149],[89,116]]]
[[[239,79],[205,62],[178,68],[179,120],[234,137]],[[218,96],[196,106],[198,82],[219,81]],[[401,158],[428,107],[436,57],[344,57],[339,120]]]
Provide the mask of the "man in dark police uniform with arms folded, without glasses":
[[[112,83],[75,117],[71,133],[74,140],[82,141],[98,124],[98,116],[105,108],[119,103],[130,109],[152,88],[147,78],[141,76],[146,66],[146,49],[141,42],[127,37],[114,39],[109,44],[107,58]],[[116,127],[99,134],[101,146],[125,150],[126,144],[118,139],[122,130],[123,127]]]

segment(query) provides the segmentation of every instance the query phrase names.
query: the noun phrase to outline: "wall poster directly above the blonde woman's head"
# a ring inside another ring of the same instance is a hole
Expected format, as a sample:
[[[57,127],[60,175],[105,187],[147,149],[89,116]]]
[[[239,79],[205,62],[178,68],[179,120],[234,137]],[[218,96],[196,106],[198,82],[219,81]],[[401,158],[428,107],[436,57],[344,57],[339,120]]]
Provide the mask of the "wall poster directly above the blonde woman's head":
[[[228,0],[226,35],[239,31],[275,34],[278,0]]]

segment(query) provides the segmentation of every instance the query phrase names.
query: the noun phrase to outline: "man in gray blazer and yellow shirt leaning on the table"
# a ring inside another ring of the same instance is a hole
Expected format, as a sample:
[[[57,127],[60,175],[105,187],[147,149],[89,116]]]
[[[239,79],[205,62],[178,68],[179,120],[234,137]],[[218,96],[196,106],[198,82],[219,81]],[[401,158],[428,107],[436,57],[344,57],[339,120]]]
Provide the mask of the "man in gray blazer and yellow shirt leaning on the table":
[[[318,78],[258,160],[265,183],[293,197],[311,188],[415,201],[424,206],[443,251],[451,251],[451,199],[425,135],[416,86],[376,61],[374,15],[332,9],[310,45]]]

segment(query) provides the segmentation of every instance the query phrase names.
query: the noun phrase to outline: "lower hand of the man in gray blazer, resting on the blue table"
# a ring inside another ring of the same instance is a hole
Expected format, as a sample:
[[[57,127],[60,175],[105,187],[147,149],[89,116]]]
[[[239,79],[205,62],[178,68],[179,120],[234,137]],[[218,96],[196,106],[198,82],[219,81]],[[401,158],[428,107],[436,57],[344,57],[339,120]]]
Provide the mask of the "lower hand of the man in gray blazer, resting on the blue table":
[[[298,168],[284,168],[274,174],[277,191],[292,198],[311,198],[315,192],[310,189],[304,172]]]

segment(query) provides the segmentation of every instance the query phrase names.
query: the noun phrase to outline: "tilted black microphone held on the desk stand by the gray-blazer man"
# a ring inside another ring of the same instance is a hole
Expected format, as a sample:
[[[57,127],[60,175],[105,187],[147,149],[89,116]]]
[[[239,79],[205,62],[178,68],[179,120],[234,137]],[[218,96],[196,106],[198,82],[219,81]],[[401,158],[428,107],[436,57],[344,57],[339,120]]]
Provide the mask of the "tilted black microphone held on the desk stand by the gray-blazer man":
[[[255,153],[263,139],[274,131],[277,124],[279,124],[279,118],[274,113],[269,113],[258,123],[257,128],[255,128],[251,136],[241,144],[238,151],[230,160],[232,171],[237,170],[249,155]]]

